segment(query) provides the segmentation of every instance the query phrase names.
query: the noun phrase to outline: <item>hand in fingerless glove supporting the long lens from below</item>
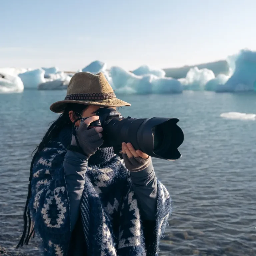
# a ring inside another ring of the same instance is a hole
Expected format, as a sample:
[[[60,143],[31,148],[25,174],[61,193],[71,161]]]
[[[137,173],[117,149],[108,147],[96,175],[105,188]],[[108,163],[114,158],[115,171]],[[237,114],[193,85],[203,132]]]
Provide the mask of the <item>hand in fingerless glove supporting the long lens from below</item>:
[[[130,172],[144,170],[151,163],[151,157],[141,150],[135,150],[131,143],[122,143],[122,155],[125,166]]]

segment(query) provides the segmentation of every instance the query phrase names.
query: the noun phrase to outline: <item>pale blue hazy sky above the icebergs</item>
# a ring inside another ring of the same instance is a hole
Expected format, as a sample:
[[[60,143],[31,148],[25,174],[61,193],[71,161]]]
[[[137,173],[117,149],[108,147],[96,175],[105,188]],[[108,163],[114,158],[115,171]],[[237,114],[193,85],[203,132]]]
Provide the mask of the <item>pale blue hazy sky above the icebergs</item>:
[[[255,0],[2,0],[0,67],[178,67],[256,50]]]

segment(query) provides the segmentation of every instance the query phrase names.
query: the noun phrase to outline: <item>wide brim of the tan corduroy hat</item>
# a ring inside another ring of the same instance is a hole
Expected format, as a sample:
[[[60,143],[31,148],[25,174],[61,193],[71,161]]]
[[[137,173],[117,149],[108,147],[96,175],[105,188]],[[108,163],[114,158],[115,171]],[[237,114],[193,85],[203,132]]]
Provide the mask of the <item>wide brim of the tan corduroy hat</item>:
[[[50,110],[55,113],[62,113],[65,110],[67,103],[77,103],[83,105],[99,105],[102,107],[123,107],[123,106],[131,106],[130,103],[125,102],[123,100],[119,100],[117,98],[105,99],[105,100],[61,100],[53,103],[50,106]]]

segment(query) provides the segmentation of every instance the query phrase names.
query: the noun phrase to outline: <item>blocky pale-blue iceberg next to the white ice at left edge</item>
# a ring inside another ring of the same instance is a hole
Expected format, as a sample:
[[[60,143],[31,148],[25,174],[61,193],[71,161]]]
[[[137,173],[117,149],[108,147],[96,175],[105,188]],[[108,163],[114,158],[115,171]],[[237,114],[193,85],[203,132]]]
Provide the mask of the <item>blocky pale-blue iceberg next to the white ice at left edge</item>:
[[[45,71],[43,69],[34,69],[25,73],[19,74],[25,89],[37,89],[38,85],[45,83]]]

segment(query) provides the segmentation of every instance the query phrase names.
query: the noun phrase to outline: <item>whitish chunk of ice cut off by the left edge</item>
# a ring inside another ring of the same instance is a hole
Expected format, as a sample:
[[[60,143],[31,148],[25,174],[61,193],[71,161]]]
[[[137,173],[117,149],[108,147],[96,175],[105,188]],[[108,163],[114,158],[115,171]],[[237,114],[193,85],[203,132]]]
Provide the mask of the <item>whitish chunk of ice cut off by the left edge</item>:
[[[24,85],[18,76],[0,73],[0,93],[23,92]]]

